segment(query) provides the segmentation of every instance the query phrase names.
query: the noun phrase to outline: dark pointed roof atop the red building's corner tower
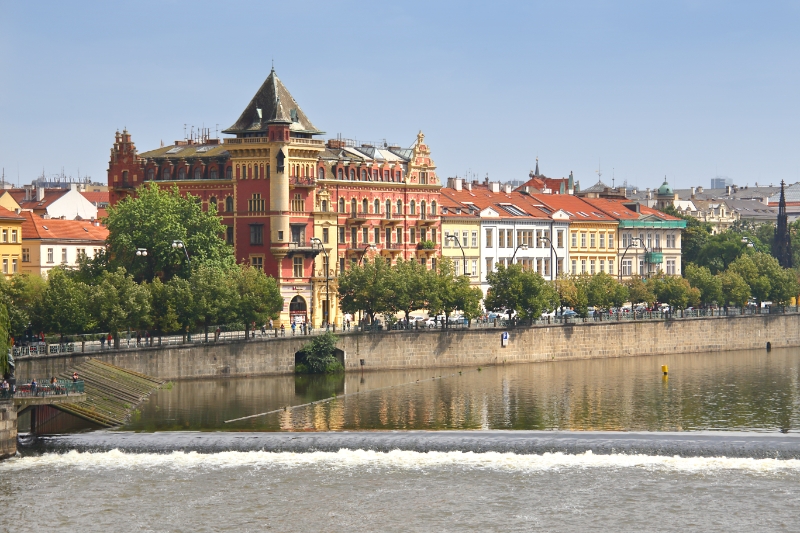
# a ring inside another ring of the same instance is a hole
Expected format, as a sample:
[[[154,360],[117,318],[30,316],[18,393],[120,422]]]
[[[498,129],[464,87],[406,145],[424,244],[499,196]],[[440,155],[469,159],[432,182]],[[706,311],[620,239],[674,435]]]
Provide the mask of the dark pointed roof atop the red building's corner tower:
[[[259,116],[259,110],[261,114]],[[272,69],[264,83],[253,96],[242,112],[239,120],[222,133],[253,133],[267,131],[272,123],[289,124],[292,131],[320,135],[319,131],[308,119],[297,104],[292,94]]]

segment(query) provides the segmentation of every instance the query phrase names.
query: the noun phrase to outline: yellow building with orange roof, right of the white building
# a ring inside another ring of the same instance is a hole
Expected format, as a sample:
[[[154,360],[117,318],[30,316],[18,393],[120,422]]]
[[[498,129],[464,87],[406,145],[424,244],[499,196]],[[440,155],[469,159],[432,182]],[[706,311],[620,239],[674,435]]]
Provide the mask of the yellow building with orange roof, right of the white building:
[[[577,196],[540,194],[533,198],[570,217],[567,273],[617,275],[617,220]]]

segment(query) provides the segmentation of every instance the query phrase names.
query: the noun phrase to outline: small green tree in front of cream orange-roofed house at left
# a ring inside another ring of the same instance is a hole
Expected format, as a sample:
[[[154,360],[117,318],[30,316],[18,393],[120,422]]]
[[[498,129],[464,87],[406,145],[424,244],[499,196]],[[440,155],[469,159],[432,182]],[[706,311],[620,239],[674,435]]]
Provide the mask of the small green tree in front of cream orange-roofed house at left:
[[[84,333],[93,329],[89,287],[75,281],[61,267],[50,270],[42,298],[42,329],[51,333]]]

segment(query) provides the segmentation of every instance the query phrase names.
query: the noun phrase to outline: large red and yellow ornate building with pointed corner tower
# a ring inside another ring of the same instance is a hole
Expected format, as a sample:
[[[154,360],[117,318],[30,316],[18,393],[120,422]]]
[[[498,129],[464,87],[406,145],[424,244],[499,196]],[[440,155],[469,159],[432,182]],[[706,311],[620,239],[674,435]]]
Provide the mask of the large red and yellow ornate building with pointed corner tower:
[[[325,142],[273,70],[223,133],[138,153],[118,132],[111,205],[156,182],[216,206],[237,260],[278,279],[287,323],[341,323],[336,276],[365,254],[435,265],[441,182],[422,132],[411,148]]]

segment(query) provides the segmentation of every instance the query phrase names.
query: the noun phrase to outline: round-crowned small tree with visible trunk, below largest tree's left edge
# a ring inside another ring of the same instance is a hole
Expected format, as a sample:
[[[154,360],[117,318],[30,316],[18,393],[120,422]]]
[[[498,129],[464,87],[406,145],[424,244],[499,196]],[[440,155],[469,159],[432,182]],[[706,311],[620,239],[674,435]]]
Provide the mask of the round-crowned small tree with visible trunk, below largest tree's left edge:
[[[97,327],[114,337],[119,348],[119,332],[146,325],[150,318],[150,294],[120,267],[105,272],[91,290],[90,309]]]

